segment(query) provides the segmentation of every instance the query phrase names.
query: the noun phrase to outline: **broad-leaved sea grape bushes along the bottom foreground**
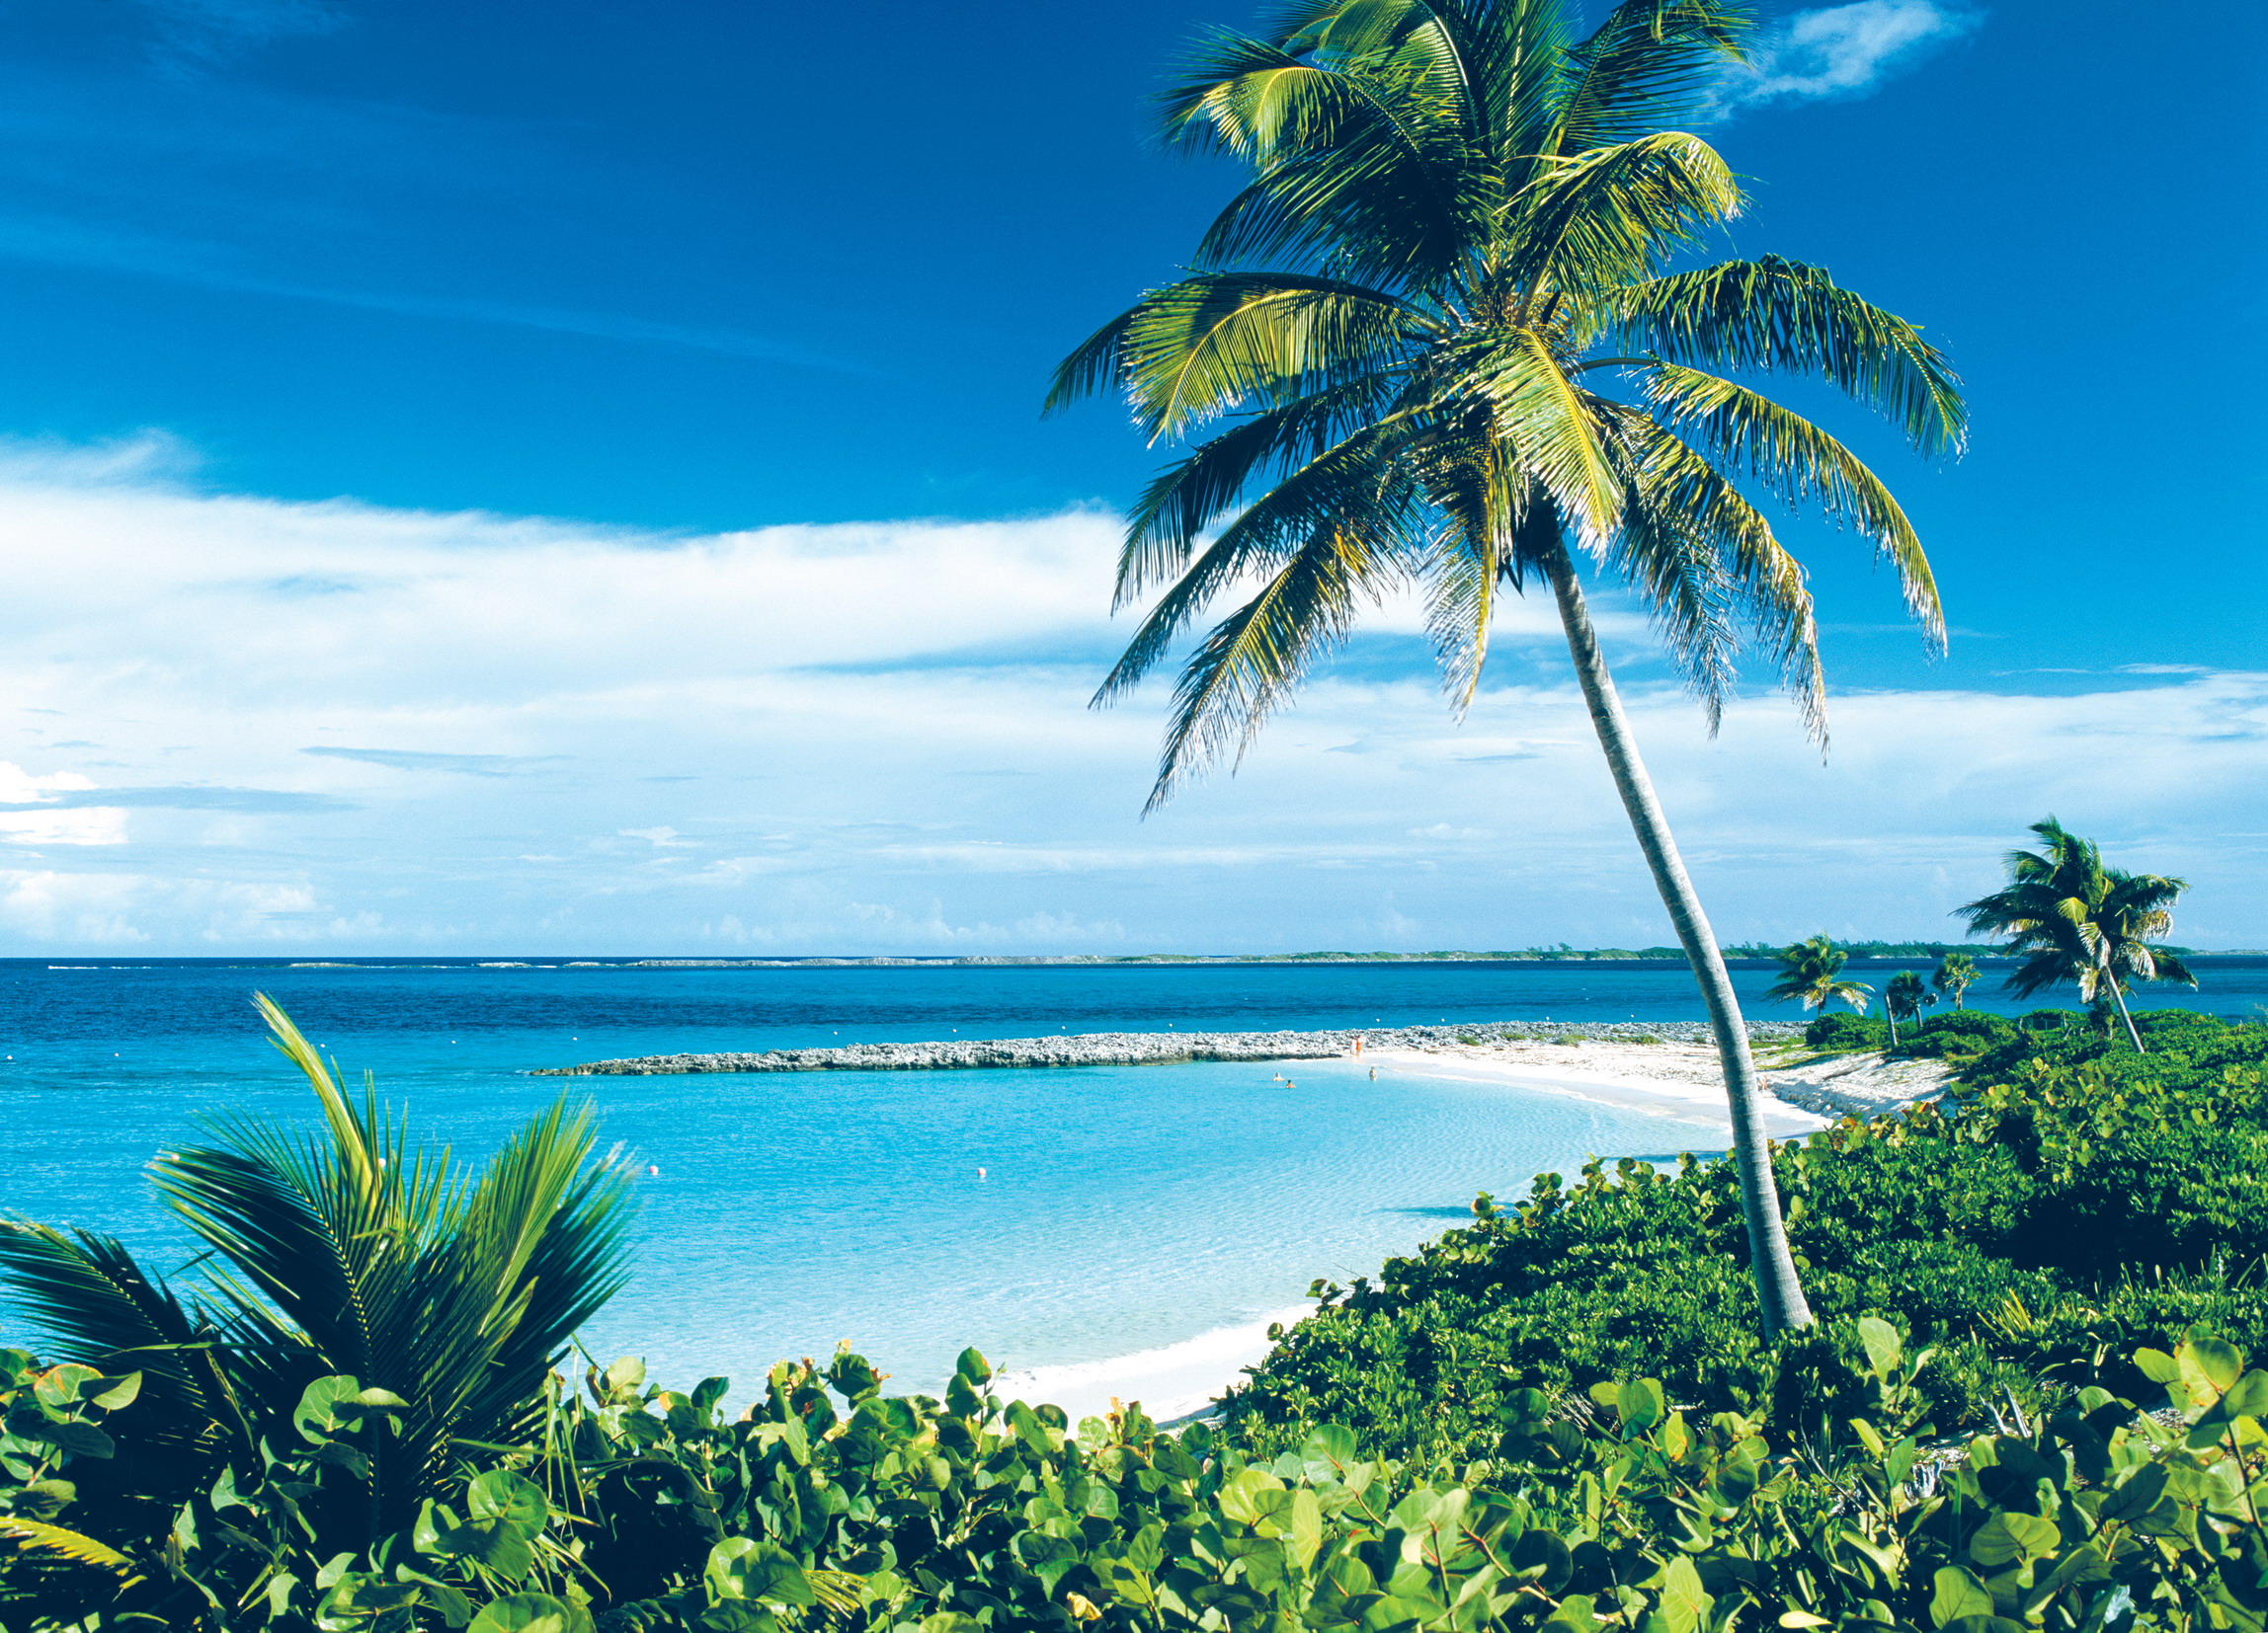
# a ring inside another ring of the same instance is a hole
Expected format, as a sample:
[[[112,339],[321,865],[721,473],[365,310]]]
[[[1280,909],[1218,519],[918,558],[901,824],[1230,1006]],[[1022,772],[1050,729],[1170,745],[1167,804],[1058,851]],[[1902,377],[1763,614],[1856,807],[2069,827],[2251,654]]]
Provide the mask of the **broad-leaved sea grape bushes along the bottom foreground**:
[[[463,1447],[460,1501],[358,1556],[306,1558],[313,1488],[352,1490],[392,1408],[311,1386],[302,1445],[159,1538],[79,1538],[75,1458],[127,1379],[11,1352],[0,1619],[64,1628],[610,1633],[1245,1633],[1551,1628],[1853,1633],[2268,1624],[2268,1372],[2209,1334],[2141,1349],[2159,1415],[2102,1388],[1926,1445],[1932,1354],[1860,1320],[1862,1411],[1789,1438],[1656,1379],[1515,1390],[1490,1458],[1368,1458],[1343,1427],[1247,1458],[1139,1408],[1075,1431],[1002,1404],[968,1352],[946,1399],[839,1354],[773,1368],[737,1420],[617,1363],[517,1447]],[[837,1408],[844,1402],[846,1408]],[[472,1472],[472,1461],[488,1467]],[[36,1474],[36,1479],[25,1479]],[[77,1540],[64,1540],[77,1538]]]

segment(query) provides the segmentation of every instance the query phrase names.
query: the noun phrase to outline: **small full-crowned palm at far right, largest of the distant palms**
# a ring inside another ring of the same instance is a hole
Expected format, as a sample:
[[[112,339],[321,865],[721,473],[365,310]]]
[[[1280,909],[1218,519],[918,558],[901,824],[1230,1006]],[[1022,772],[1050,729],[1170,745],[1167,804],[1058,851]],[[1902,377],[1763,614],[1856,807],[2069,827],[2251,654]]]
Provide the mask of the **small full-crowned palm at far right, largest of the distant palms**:
[[[2112,1000],[2136,1055],[2148,1055],[2125,989],[2139,980],[2198,984],[2189,966],[2150,946],[2173,930],[2173,905],[2184,880],[2102,866],[2102,851],[2055,816],[2032,823],[2039,851],[2007,853],[2007,885],[1957,907],[1973,934],[2009,939],[2025,959],[2009,973],[2019,998],[2071,982],[2084,1002]]]

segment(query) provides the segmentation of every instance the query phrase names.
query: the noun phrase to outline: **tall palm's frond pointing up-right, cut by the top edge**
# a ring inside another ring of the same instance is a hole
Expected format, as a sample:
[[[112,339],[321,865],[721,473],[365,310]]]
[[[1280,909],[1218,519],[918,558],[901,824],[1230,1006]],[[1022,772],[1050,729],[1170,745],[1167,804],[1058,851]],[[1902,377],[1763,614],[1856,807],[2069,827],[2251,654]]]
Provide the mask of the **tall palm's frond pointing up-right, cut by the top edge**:
[[[1749,61],[1755,16],[1721,0],[1624,0],[1567,52],[1549,152],[1631,141],[1708,111],[1724,70]]]

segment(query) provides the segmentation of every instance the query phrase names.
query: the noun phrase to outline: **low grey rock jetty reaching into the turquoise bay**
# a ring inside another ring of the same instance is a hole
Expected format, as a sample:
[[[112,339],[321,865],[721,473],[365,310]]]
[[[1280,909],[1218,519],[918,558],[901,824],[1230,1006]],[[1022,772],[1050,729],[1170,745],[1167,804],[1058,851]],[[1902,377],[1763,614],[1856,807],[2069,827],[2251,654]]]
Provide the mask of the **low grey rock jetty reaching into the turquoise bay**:
[[[1778,1039],[1801,1032],[1785,1021],[1751,1021],[1749,1037]],[[1583,1025],[1551,1021],[1486,1021],[1431,1027],[1347,1027],[1343,1032],[1080,1032],[1043,1039],[955,1039],[950,1043],[846,1043],[841,1048],[764,1050],[762,1055],[640,1055],[542,1068],[538,1077],[662,1077],[683,1073],[767,1071],[968,1071],[1000,1066],[1179,1066],[1186,1061],[1336,1059],[1365,1048],[1440,1048],[1445,1043],[1513,1043],[1594,1039],[1599,1043],[1658,1039],[1708,1043],[1699,1021],[1624,1021]]]

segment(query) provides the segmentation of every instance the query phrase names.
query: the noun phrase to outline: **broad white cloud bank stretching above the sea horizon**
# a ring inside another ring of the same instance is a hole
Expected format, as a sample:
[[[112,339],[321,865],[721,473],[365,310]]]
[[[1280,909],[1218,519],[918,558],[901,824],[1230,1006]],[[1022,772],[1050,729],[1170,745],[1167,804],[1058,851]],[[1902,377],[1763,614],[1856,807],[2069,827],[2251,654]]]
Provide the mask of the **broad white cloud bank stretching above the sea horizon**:
[[[1145,823],[1157,696],[1084,705],[1125,635],[1109,517],[674,538],[179,469],[163,442],[0,458],[0,950],[1667,937],[1542,606],[1501,649],[1531,683],[1463,724],[1422,674],[1349,667]],[[1733,939],[1941,930],[2050,810],[2189,875],[2186,937],[2268,928],[2268,676],[1844,696],[1826,767],[1785,703],[1710,742],[1644,676]]]

